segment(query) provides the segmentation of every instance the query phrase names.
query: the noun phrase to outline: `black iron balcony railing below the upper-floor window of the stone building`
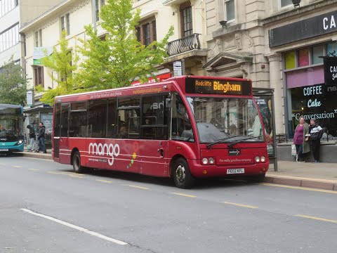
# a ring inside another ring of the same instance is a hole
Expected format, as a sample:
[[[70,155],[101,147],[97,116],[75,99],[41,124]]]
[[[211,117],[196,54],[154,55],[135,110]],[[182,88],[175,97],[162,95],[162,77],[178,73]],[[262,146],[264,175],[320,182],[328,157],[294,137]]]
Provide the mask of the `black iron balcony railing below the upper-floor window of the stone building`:
[[[178,53],[192,51],[193,49],[200,49],[201,45],[199,35],[201,34],[191,34],[187,37],[169,42],[169,44],[167,44],[167,54],[169,56],[174,56]]]

